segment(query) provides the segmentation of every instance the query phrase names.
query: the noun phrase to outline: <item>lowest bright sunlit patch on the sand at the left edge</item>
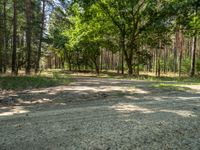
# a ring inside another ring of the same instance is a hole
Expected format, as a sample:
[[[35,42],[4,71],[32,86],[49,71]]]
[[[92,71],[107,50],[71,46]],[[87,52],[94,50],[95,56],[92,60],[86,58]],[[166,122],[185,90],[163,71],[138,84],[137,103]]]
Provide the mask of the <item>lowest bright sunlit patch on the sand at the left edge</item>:
[[[2,107],[0,108],[0,110],[2,109],[8,109],[7,107]],[[4,112],[0,112],[0,117],[3,116],[12,116],[12,115],[16,115],[16,114],[24,114],[24,113],[28,113],[30,112],[29,110],[26,110],[24,107],[22,106],[14,106],[11,109],[8,109],[7,111]]]

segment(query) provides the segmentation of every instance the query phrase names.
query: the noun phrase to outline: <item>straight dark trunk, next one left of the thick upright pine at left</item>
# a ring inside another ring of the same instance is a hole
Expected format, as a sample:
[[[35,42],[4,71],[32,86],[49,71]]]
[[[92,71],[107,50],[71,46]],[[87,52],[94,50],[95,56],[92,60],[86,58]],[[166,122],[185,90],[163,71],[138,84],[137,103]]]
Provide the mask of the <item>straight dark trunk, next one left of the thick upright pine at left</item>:
[[[17,75],[17,0],[13,0],[13,50],[12,74]]]

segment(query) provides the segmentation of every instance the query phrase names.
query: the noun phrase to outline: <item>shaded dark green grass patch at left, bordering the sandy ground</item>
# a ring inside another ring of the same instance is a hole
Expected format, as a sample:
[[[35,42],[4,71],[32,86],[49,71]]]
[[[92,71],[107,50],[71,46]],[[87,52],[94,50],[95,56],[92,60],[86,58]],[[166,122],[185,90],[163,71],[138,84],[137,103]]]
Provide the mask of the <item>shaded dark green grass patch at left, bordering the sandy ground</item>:
[[[70,79],[53,73],[51,76],[2,76],[0,77],[0,89],[25,90],[33,88],[45,88],[58,85],[67,85]]]

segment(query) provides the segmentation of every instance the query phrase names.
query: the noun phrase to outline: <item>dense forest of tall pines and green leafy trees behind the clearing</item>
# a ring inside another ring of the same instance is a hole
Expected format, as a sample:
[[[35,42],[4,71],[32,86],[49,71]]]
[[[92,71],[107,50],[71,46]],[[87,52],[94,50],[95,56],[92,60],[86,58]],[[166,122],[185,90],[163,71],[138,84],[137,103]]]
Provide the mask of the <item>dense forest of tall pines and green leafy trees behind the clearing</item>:
[[[2,0],[0,72],[200,72],[198,0]]]

